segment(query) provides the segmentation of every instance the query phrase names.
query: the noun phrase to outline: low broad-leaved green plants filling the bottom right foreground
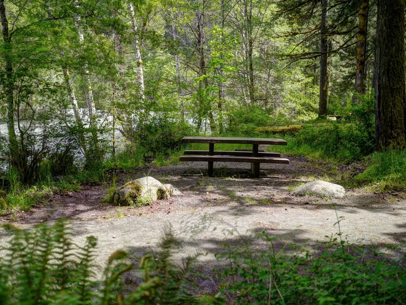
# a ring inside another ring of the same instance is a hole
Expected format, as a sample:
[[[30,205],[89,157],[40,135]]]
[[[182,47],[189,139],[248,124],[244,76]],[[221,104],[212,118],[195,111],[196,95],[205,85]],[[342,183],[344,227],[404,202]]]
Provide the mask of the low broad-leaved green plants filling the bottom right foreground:
[[[275,238],[263,232],[261,251],[247,241],[226,245],[217,258],[230,262],[220,271],[223,292],[238,304],[401,304],[406,301],[406,271],[402,253],[392,260],[365,246],[337,238],[315,253],[289,249],[276,251]]]

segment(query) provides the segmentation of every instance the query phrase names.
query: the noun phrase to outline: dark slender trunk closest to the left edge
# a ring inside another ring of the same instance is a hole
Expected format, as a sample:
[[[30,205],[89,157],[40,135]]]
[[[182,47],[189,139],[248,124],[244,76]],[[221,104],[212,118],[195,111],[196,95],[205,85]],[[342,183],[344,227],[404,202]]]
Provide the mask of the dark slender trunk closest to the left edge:
[[[13,60],[11,57],[11,35],[9,33],[9,21],[7,20],[6,7],[4,0],[0,0],[0,21],[2,23],[2,34],[4,51],[1,53],[5,62],[5,92],[7,105],[7,130],[9,136],[9,144],[11,153],[15,154],[18,151],[18,142],[14,126],[14,74]]]

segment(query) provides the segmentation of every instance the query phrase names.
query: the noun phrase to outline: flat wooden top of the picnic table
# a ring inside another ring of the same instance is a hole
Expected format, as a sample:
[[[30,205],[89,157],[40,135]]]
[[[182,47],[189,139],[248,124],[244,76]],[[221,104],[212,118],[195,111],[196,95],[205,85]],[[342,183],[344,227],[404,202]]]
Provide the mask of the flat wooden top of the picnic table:
[[[228,137],[183,137],[182,143],[231,143],[231,144],[288,145],[288,142],[286,142],[283,139],[228,138]]]

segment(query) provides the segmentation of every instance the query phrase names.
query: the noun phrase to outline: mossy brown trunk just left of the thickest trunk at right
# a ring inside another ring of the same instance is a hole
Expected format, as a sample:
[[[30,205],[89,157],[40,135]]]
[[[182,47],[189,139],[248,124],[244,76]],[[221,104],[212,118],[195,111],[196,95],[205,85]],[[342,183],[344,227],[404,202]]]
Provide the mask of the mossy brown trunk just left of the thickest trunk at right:
[[[356,47],[357,69],[355,72],[355,92],[359,95],[365,94],[365,55],[366,55],[366,38],[368,30],[368,9],[369,0],[359,0],[358,10],[358,34]],[[361,103],[361,100],[355,95],[353,102]]]

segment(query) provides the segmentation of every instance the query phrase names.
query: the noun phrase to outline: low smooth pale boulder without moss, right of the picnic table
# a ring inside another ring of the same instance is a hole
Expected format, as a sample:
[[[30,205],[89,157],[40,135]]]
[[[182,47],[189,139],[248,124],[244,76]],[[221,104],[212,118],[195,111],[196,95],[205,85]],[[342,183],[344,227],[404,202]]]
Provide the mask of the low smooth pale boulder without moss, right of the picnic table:
[[[342,198],[346,194],[346,190],[343,187],[330,182],[315,180],[307,182],[306,184],[297,188],[293,192],[293,194],[295,195],[314,194],[319,197],[325,196],[325,197]]]

